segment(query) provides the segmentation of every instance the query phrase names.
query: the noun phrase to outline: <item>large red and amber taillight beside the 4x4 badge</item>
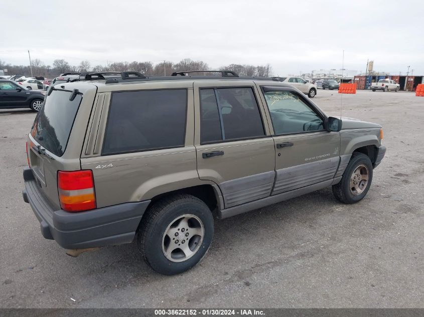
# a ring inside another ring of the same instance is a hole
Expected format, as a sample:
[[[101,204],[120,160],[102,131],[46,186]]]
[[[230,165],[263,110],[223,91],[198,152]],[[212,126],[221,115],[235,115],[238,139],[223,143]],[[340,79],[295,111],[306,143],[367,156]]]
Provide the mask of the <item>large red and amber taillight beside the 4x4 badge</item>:
[[[93,172],[91,170],[57,172],[60,206],[77,212],[96,208]]]

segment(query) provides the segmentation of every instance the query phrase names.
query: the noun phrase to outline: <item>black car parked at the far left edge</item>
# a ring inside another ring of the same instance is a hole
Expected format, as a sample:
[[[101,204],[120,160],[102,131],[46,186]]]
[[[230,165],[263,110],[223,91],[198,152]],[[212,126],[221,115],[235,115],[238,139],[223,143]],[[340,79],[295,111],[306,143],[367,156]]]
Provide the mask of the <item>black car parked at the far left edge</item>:
[[[28,90],[12,80],[0,80],[0,109],[31,108],[39,111],[45,96],[45,91]]]

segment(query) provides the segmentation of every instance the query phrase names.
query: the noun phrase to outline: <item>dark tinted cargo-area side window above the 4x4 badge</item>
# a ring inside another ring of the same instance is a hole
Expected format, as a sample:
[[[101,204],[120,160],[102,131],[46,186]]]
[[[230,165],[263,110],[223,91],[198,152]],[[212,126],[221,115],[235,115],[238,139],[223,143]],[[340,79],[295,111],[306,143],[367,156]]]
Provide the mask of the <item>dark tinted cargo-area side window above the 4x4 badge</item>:
[[[182,147],[187,90],[145,90],[112,94],[102,154]]]

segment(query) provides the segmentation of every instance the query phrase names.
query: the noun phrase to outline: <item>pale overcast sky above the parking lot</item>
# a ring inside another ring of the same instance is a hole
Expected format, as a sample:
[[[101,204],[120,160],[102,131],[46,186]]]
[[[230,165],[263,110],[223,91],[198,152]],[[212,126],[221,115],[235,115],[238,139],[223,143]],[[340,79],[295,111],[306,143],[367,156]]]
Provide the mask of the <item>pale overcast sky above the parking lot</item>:
[[[9,1],[0,60],[91,66],[202,60],[211,68],[269,63],[284,76],[321,69],[424,76],[423,0]],[[9,29],[15,25],[16,28]]]

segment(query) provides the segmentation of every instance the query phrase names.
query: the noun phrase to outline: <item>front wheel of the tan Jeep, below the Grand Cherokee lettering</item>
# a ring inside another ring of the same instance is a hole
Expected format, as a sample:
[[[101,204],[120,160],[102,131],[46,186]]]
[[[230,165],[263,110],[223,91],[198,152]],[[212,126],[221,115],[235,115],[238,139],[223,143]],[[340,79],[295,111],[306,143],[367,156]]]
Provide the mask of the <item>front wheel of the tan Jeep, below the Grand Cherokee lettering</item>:
[[[355,152],[343,173],[342,179],[332,186],[334,196],[345,204],[362,200],[372,182],[372,162],[368,156]]]

